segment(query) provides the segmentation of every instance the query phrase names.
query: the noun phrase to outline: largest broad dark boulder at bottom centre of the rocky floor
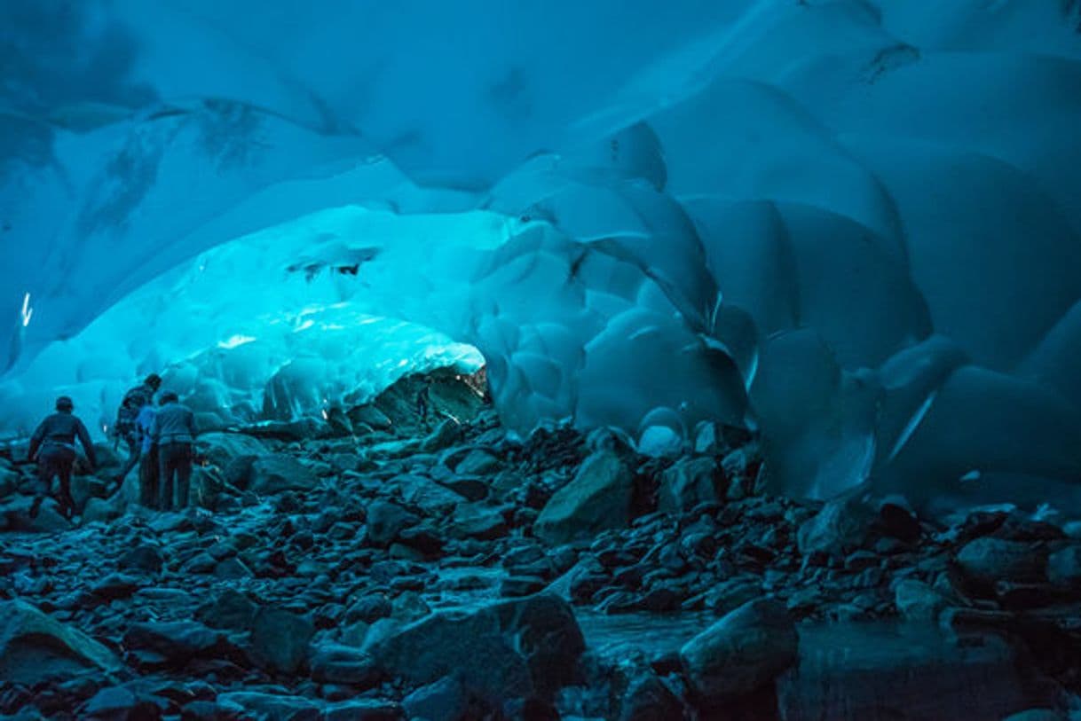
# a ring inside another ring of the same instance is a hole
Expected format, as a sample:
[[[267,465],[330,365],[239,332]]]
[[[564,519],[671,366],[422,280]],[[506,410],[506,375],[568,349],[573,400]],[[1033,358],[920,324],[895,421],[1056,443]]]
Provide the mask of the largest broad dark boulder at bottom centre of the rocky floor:
[[[584,651],[574,612],[550,595],[437,611],[371,646],[388,676],[421,686],[453,673],[497,707],[510,698],[550,698],[576,679]]]

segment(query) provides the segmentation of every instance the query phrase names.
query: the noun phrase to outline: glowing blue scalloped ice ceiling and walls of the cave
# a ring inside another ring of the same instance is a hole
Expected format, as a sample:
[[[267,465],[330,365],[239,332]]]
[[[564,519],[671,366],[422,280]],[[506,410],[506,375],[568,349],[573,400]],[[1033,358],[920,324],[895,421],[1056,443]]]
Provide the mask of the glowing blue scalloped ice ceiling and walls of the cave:
[[[793,493],[1073,498],[1075,0],[0,15],[8,430],[160,366],[311,412],[468,344],[523,432],[720,419]]]

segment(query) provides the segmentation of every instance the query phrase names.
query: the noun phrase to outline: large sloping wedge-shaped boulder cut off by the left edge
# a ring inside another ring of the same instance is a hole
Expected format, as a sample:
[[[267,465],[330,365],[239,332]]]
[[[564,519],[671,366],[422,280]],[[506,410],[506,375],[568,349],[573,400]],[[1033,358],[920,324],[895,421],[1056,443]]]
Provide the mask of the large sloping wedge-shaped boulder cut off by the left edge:
[[[111,651],[36,606],[0,602],[0,682],[34,685],[120,667]]]

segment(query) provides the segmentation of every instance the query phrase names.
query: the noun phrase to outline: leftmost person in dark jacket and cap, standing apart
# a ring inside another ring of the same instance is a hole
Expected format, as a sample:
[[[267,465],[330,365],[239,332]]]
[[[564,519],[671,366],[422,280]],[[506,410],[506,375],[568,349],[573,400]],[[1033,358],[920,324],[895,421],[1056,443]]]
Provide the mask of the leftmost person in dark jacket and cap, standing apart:
[[[34,436],[30,437],[30,449],[27,456],[38,462],[38,478],[45,486],[45,493],[51,493],[53,477],[59,478],[61,512],[71,518],[75,513],[75,500],[71,498],[71,467],[75,465],[75,439],[82,443],[91,470],[97,466],[94,455],[94,444],[83,425],[74,413],[75,403],[67,396],[56,399],[56,413],[41,422]],[[35,499],[30,516],[37,516],[43,496]]]

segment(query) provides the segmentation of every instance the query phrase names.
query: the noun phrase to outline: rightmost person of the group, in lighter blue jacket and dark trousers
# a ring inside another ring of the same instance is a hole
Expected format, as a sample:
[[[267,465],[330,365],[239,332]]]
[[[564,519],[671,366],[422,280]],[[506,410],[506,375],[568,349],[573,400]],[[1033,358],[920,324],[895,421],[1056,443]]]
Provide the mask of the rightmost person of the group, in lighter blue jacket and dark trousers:
[[[158,449],[158,505],[161,510],[181,510],[188,506],[196,416],[174,392],[162,393],[160,403],[150,425],[150,443]]]

